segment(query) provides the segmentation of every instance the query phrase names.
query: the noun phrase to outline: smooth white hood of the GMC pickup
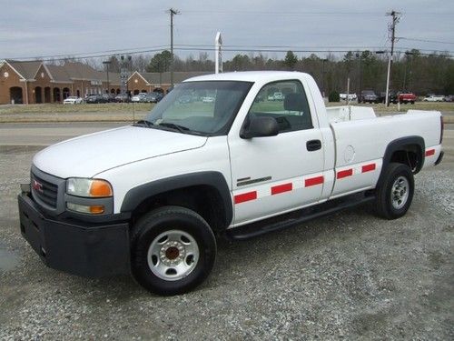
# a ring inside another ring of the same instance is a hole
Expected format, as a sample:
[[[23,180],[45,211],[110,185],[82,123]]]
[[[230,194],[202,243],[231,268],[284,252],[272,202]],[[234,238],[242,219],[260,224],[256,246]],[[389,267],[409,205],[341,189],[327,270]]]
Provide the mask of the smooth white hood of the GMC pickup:
[[[207,137],[123,126],[51,145],[35,155],[34,165],[62,178],[92,177],[135,161],[200,148]]]

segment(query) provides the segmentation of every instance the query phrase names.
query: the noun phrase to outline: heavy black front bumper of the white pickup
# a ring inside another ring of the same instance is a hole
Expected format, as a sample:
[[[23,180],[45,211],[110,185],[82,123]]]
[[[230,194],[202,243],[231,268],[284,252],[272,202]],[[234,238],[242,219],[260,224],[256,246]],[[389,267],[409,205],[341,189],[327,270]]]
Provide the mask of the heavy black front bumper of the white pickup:
[[[128,223],[73,223],[44,216],[27,195],[18,196],[21,233],[46,266],[99,277],[130,274]]]

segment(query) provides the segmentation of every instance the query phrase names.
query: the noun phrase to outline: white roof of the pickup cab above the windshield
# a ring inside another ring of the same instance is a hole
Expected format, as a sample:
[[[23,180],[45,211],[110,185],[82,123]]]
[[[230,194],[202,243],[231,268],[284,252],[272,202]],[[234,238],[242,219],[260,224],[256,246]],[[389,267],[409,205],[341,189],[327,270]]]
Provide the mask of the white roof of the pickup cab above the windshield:
[[[305,78],[308,74],[296,71],[241,71],[224,74],[199,75],[186,79],[184,82],[199,81],[242,81],[242,82],[272,82],[281,79]]]

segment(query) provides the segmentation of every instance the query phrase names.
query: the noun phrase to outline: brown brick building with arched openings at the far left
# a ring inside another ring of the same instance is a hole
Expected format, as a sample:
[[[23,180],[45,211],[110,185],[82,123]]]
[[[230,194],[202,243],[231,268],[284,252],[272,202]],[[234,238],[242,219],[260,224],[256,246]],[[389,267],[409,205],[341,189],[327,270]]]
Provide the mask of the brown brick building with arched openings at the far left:
[[[119,94],[120,75],[97,71],[89,65],[42,61],[0,62],[0,105],[61,103],[69,95]]]

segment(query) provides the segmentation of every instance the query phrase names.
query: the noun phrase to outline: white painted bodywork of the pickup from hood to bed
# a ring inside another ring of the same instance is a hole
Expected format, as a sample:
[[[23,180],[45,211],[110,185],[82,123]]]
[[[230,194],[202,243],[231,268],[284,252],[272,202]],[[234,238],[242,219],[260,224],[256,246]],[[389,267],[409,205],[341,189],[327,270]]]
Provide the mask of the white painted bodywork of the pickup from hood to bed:
[[[374,188],[387,145],[402,136],[421,136],[424,166],[437,160],[439,112],[410,110],[406,115],[376,117],[371,108],[326,108],[310,75],[291,72],[244,72],[203,75],[188,81],[247,81],[253,85],[228,135],[203,137],[130,126],[53,145],[35,155],[34,164],[63,178],[97,177],[114,188],[114,213],[126,193],[171,176],[216,171],[232,195],[230,227],[311,206],[337,196]],[[262,86],[297,80],[307,95],[313,129],[243,139],[242,125]],[[320,140],[309,152],[307,141]],[[239,186],[238,180],[267,178]]]

